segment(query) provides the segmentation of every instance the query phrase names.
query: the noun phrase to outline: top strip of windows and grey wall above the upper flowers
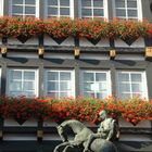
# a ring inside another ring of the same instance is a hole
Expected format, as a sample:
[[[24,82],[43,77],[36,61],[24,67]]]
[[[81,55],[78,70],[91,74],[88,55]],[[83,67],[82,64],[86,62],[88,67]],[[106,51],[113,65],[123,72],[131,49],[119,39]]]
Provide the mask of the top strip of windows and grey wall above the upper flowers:
[[[0,0],[0,15],[152,21],[152,0]]]

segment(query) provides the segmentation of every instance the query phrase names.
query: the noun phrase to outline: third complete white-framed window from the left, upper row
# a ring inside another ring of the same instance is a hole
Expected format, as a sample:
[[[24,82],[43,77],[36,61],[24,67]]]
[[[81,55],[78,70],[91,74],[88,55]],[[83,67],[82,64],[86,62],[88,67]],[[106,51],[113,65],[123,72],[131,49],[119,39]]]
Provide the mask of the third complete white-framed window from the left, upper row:
[[[83,18],[107,18],[107,0],[81,0],[80,8]]]

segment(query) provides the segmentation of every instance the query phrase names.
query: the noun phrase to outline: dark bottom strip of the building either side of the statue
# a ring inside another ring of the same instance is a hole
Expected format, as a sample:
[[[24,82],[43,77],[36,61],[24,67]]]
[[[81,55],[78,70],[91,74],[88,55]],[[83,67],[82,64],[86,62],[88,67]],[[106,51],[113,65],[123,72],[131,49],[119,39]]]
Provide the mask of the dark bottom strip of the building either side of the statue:
[[[1,141],[0,152],[53,152],[61,141]],[[152,152],[152,142],[115,142],[118,152]]]

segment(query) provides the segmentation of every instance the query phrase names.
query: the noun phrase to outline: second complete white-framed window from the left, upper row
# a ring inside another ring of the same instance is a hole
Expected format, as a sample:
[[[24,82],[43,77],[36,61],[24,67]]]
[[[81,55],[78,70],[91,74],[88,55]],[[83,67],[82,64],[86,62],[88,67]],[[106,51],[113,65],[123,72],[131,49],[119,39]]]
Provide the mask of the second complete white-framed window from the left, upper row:
[[[73,0],[46,0],[46,17],[73,17]]]

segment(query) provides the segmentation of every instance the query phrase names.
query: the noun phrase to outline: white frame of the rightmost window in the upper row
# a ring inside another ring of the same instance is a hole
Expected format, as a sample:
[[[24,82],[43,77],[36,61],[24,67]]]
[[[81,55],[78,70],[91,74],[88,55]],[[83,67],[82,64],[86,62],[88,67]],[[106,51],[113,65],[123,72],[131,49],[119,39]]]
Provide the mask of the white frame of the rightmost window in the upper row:
[[[116,0],[113,0],[113,14],[114,14],[114,17],[118,17],[118,16],[116,16],[115,1]],[[126,1],[127,0],[125,0],[125,3],[126,3]],[[125,8],[119,8],[119,9],[126,10],[126,14],[127,14],[127,8],[126,7]],[[128,16],[126,16],[126,17],[118,17],[118,18],[130,20]],[[137,0],[137,17],[135,17],[135,20],[142,21],[142,3],[141,3],[141,0]]]

